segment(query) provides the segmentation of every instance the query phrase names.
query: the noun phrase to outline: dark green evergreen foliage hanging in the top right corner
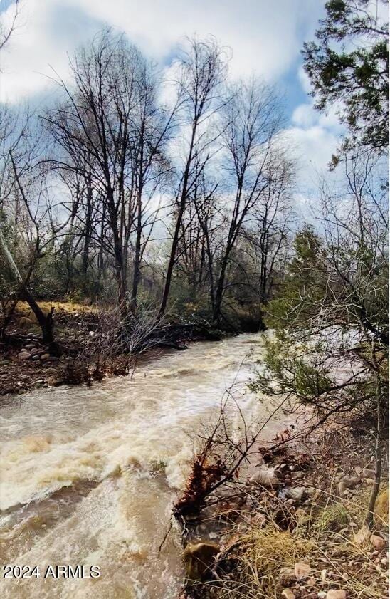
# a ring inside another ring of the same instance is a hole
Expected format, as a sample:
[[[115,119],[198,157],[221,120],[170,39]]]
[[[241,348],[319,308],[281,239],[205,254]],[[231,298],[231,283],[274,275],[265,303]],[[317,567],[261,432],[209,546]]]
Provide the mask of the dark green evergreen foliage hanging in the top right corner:
[[[338,107],[348,129],[342,150],[384,152],[389,142],[388,1],[330,0],[325,11],[317,41],[305,43],[302,51],[315,106]]]

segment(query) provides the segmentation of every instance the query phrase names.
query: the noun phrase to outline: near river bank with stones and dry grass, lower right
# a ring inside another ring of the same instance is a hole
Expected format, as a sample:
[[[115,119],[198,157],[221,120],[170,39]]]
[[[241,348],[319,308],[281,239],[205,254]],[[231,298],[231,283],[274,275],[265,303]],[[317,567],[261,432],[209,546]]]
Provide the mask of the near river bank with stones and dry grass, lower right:
[[[387,596],[389,481],[382,478],[369,529],[369,437],[348,426],[294,427],[262,440],[249,462],[245,476],[231,476],[184,517],[182,598]]]

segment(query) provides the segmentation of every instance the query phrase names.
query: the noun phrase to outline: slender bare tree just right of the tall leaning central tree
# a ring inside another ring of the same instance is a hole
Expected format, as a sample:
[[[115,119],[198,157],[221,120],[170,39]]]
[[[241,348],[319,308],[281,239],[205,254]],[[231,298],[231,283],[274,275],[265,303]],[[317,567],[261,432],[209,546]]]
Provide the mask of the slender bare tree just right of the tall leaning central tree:
[[[228,233],[216,277],[213,320],[221,323],[221,307],[231,253],[248,217],[255,212],[270,186],[270,164],[282,125],[273,90],[255,80],[234,90],[225,106],[223,135],[226,173],[226,221]]]

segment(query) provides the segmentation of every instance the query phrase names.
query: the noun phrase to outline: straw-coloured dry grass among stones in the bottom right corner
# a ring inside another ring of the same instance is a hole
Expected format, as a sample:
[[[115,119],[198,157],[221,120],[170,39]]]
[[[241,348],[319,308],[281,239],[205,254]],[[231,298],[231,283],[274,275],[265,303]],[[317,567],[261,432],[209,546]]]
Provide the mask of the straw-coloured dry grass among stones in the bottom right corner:
[[[230,580],[223,581],[218,599],[280,598],[280,568],[293,568],[297,561],[310,563],[312,568],[311,584],[301,581],[292,588],[299,598],[343,589],[348,599],[383,599],[388,588],[386,566],[373,554],[371,533],[363,541],[354,536],[359,528],[364,531],[369,491],[362,488],[348,501],[330,497],[325,505],[314,506],[306,519],[297,519],[293,531],[280,530],[270,514],[264,528],[250,526],[234,548],[237,566]],[[388,507],[389,491],[383,489],[376,503],[377,531],[387,532]],[[324,570],[327,574],[322,579]]]

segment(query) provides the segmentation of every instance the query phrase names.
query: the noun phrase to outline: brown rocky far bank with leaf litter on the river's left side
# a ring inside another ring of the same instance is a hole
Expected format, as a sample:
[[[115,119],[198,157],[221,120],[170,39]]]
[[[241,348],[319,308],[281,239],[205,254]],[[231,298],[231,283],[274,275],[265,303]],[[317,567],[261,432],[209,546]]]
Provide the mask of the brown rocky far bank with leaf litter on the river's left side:
[[[107,328],[107,323],[102,325],[97,308],[57,302],[56,339],[60,350],[53,350],[42,342],[28,306],[20,303],[9,333],[0,343],[0,396],[22,394],[33,388],[90,385],[105,377],[128,375],[136,365],[152,362],[166,350],[181,350],[188,343],[219,340],[228,334],[213,330],[206,322],[176,320],[154,329],[152,338],[146,334],[133,350],[112,350],[102,340],[102,326]]]

